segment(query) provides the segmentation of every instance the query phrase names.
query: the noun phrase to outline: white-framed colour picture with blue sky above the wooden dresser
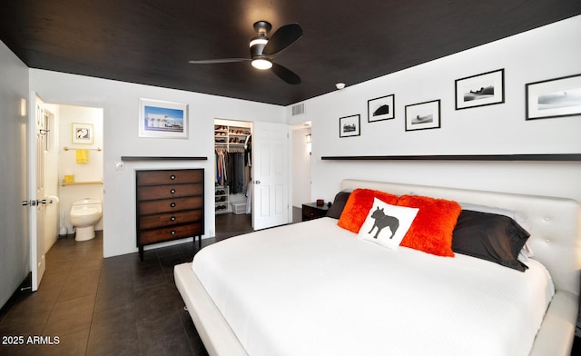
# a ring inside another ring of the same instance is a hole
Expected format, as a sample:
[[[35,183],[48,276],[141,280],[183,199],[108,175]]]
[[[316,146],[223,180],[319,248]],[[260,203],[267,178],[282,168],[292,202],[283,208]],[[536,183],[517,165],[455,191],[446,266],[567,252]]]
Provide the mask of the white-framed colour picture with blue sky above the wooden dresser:
[[[139,137],[188,138],[188,105],[139,100]]]

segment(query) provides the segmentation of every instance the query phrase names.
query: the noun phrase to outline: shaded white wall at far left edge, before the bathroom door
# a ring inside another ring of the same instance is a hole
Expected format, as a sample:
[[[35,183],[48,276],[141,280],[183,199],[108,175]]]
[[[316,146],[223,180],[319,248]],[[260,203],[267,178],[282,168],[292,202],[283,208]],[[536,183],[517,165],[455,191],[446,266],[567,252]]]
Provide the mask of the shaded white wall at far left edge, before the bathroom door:
[[[30,272],[26,134],[28,68],[0,42],[0,307]]]

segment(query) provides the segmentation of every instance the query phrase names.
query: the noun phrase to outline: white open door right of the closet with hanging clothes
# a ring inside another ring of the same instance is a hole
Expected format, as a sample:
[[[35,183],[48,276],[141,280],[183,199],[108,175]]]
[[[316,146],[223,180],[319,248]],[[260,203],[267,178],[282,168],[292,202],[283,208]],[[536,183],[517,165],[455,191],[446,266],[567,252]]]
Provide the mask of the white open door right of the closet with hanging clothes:
[[[286,124],[254,123],[252,129],[252,227],[290,223],[289,133]]]

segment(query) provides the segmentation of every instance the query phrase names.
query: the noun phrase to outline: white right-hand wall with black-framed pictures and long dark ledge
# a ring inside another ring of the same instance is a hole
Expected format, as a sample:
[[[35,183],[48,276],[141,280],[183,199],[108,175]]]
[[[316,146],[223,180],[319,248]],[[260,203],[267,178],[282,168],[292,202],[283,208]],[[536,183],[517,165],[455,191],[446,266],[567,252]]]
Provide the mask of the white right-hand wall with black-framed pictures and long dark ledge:
[[[581,44],[581,16],[306,101],[307,120],[312,121],[316,138],[311,198],[330,200],[340,180],[358,178],[565,196],[581,202],[578,162],[320,159],[334,155],[581,153],[580,116],[525,120],[525,84],[580,74],[581,46],[577,44]],[[504,104],[455,110],[456,79],[501,68],[505,69]],[[396,118],[368,123],[368,100],[388,94],[395,94]],[[441,100],[441,128],[406,132],[405,105],[436,99]],[[286,111],[291,117],[291,107]],[[339,118],[350,114],[361,114],[361,134],[340,138]]]

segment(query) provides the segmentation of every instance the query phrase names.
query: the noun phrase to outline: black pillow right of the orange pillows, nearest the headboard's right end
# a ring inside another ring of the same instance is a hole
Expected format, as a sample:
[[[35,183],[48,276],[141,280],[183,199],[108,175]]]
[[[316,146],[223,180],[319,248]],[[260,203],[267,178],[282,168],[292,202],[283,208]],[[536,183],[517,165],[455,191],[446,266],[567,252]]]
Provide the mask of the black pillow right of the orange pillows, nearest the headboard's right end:
[[[528,266],[517,258],[529,236],[507,216],[463,210],[454,229],[452,251],[525,272]]]

